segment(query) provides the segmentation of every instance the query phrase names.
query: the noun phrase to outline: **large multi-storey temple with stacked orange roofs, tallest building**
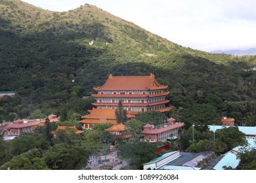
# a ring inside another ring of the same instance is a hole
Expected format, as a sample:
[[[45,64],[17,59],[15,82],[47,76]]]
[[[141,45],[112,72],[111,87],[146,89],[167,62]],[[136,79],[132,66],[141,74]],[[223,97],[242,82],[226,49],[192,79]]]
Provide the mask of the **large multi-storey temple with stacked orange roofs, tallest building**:
[[[96,108],[117,108],[121,101],[128,114],[137,115],[139,112],[160,111],[167,112],[169,92],[164,90],[167,85],[161,85],[153,74],[150,76],[108,76],[105,84],[95,87],[93,94]]]

